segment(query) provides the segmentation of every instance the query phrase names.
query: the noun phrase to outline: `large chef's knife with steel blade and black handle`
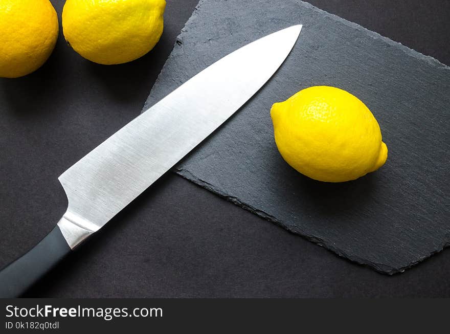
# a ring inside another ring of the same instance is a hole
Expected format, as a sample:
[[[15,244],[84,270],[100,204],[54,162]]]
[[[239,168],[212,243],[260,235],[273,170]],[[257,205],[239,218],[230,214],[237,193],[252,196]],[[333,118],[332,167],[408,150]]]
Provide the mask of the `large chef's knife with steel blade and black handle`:
[[[62,173],[68,209],[0,272],[0,297],[24,293],[233,115],[283,63],[301,29],[280,30],[218,60]]]

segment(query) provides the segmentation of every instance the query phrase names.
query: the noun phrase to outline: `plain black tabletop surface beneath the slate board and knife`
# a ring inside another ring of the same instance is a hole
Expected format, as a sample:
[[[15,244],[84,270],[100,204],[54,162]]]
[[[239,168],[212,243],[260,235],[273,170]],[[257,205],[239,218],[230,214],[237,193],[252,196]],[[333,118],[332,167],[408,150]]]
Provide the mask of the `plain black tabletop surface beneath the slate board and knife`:
[[[52,3],[61,13],[63,2]],[[450,64],[446,0],[310,3]],[[0,80],[0,266],[63,214],[57,176],[139,115],[195,5],[168,1],[160,43],[137,61],[90,63],[60,32],[40,70]],[[28,296],[449,297],[449,275],[448,250],[406,273],[380,275],[167,174]]]

